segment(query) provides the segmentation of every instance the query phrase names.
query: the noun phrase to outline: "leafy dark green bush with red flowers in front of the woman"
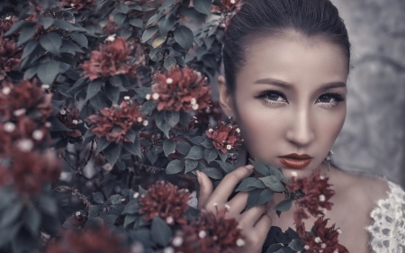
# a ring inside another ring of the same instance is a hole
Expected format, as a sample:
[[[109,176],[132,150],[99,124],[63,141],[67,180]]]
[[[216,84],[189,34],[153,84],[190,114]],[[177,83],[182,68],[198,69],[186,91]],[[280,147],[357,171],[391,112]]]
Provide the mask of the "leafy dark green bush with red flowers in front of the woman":
[[[235,169],[242,142],[211,101],[240,5],[0,4],[0,252],[238,252],[238,221],[200,212],[192,196],[197,172],[216,185]],[[347,251],[322,218],[328,178],[289,181],[251,162],[255,177],[236,189],[247,209],[275,192],[278,214],[299,207],[296,231],[273,227],[265,251]],[[310,232],[308,213],[321,216]]]

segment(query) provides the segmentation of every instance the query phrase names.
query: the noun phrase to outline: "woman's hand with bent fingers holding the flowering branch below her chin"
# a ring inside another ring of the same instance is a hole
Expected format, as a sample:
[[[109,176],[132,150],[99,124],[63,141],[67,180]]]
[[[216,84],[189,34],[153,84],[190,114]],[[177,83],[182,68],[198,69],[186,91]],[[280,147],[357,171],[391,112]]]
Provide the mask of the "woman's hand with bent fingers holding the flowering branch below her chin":
[[[198,172],[200,194],[198,196],[198,209],[216,213],[218,210],[228,208],[227,217],[235,218],[239,222],[239,229],[245,237],[245,246],[239,252],[261,252],[265,239],[272,225],[270,216],[267,215],[266,203],[255,206],[242,212],[247,204],[247,192],[240,192],[228,201],[235,187],[240,181],[252,174],[253,166],[238,167],[226,175],[220,185],[213,191],[211,180],[205,174]]]

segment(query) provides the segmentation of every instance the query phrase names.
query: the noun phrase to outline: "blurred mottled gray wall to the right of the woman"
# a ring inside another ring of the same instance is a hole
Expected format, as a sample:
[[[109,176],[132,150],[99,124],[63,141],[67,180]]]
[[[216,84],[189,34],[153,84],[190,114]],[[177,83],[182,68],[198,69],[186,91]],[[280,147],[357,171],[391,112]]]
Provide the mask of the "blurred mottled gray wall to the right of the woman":
[[[405,186],[405,1],[332,2],[347,24],[354,66],[334,160]]]

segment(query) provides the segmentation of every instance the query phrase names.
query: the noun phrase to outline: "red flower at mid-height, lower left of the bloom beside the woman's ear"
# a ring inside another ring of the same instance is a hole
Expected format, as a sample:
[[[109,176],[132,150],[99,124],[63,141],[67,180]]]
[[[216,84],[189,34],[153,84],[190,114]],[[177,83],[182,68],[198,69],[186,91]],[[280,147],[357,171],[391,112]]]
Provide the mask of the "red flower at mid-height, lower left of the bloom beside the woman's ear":
[[[122,101],[120,107],[103,108],[101,113],[88,116],[87,122],[94,124],[91,130],[98,137],[105,137],[110,142],[130,141],[126,136],[132,126],[142,124],[140,105],[131,101]]]

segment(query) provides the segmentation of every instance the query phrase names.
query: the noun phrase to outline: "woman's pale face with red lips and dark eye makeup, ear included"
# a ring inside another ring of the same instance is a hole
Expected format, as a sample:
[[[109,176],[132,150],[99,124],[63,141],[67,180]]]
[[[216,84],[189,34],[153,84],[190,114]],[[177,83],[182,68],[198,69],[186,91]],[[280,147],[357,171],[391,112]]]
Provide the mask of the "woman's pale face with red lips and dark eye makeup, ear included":
[[[345,122],[345,54],[329,41],[287,32],[250,44],[246,56],[234,93],[220,86],[225,113],[253,158],[282,167],[285,176],[309,176]]]

